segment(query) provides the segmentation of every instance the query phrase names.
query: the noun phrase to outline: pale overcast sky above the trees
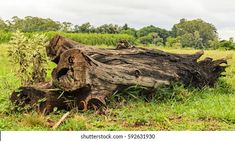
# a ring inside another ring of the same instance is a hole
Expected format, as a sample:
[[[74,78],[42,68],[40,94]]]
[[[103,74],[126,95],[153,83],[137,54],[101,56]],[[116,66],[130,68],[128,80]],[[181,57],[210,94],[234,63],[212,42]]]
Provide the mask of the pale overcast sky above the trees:
[[[235,37],[235,0],[0,0],[0,17],[13,16],[168,30],[181,18],[201,18],[216,26],[220,38]]]

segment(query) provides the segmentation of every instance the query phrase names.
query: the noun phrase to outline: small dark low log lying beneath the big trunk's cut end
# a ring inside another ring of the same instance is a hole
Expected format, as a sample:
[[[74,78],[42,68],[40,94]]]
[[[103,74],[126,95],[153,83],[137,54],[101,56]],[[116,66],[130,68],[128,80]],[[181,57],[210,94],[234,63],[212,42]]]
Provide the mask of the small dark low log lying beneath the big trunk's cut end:
[[[14,111],[36,110],[42,114],[49,114],[57,110],[87,110],[96,109],[102,103],[89,97],[89,89],[81,88],[73,92],[65,92],[55,88],[51,82],[37,83],[35,85],[18,88],[11,94],[10,100],[14,104]],[[85,101],[91,101],[85,104]]]

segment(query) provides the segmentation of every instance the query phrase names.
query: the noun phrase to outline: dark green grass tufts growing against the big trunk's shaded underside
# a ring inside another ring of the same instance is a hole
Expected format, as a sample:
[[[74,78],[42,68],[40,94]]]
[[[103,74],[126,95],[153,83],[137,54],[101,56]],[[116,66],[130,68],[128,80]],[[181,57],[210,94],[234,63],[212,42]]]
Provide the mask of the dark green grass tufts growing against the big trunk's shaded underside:
[[[160,86],[158,88],[148,90],[141,86],[130,86],[115,92],[110,98],[111,106],[124,104],[128,101],[147,101],[147,102],[166,102],[166,101],[183,101],[190,96],[189,90],[184,88],[181,83],[173,83],[169,86]],[[123,105],[122,105],[123,106]]]

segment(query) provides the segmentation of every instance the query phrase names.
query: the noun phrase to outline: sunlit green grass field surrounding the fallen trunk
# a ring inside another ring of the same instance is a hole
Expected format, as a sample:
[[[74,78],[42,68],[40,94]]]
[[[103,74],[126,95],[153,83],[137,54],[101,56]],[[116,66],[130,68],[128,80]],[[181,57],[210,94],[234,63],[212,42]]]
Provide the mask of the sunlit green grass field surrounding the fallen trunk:
[[[7,58],[7,44],[1,44],[0,49],[0,130],[52,130],[50,123],[58,121],[66,111],[55,111],[48,116],[11,112],[9,96],[19,87],[19,81]],[[195,52],[192,49],[163,50]],[[57,130],[235,130],[235,52],[205,51],[205,56],[233,57],[229,60],[227,76],[214,88],[185,89],[175,85],[159,89],[159,96],[150,102],[132,96],[123,103],[112,103],[106,115],[93,111],[74,112]],[[135,89],[129,91],[130,95],[135,92]],[[163,96],[168,98],[162,99]]]

